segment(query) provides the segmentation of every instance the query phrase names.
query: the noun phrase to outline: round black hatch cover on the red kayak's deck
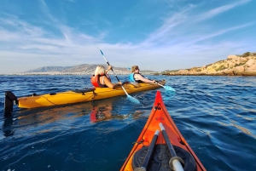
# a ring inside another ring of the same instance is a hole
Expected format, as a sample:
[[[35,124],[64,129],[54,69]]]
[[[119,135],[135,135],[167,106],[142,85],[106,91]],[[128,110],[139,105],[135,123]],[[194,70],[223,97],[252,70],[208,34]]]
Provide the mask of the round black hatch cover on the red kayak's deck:
[[[195,159],[188,152],[183,150],[183,148],[173,145],[173,148],[178,157],[181,157],[184,161],[183,169],[184,171],[196,171]],[[132,158],[132,168],[140,168],[143,164],[144,157],[148,151],[148,146],[144,146],[138,150],[134,157]],[[172,171],[169,166],[169,161],[171,159],[170,152],[166,144],[155,145],[154,154],[150,159],[147,171]]]

